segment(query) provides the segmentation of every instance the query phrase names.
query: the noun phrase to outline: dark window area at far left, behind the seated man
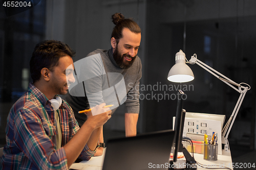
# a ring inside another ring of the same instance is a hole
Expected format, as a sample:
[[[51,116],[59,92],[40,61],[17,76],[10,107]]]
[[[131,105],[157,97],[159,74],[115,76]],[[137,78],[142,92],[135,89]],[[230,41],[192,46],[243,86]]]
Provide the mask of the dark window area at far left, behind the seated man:
[[[5,144],[10,108],[31,81],[29,61],[45,36],[45,1],[30,10],[7,16],[0,6],[0,145]],[[14,10],[15,11],[15,10]]]

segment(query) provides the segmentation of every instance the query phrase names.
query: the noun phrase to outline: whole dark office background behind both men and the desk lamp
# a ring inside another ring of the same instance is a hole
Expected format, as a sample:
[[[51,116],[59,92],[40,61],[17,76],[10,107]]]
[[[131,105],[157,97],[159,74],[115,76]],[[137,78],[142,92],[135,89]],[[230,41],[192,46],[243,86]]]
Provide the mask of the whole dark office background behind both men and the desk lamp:
[[[255,7],[254,0],[41,0],[30,10],[7,17],[1,6],[1,146],[8,112],[31,81],[29,60],[35,44],[45,39],[64,41],[76,50],[75,62],[96,48],[110,48],[111,15],[120,12],[133,17],[142,30],[140,83],[147,88],[141,89],[138,133],[172,128],[177,101],[158,96],[177,94],[177,89],[160,90],[162,85],[193,87],[183,88],[187,95],[184,109],[189,112],[225,114],[226,120],[231,115],[240,94],[198,65],[189,65],[195,80],[167,81],[175,54],[182,50],[187,59],[196,53],[199,60],[231,80],[251,86],[228,139],[233,159],[252,152],[256,143]],[[104,136],[124,136],[123,107],[104,126]]]

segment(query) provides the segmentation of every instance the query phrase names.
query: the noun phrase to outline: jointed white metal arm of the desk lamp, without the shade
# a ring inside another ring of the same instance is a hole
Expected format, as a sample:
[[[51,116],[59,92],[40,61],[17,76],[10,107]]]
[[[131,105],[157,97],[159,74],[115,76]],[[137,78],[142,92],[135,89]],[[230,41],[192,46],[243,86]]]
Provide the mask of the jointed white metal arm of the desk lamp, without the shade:
[[[239,111],[239,109],[241,107],[241,104],[242,104],[242,102],[244,100],[244,96],[245,96],[246,92],[250,89],[250,86],[248,84],[246,84],[246,85],[249,86],[249,88],[248,87],[244,87],[241,84],[245,84],[245,83],[238,84],[238,83],[230,80],[229,78],[227,78],[226,76],[224,76],[220,72],[218,72],[217,70],[211,68],[207,64],[205,64],[202,61],[198,60],[196,54],[194,54],[194,56],[191,56],[191,59],[189,60],[189,63],[190,64],[195,64],[195,63],[198,64],[199,66],[204,68],[206,71],[208,71],[210,74],[214,75],[219,80],[221,80],[222,82],[226,83],[228,86],[232,87],[234,90],[236,90],[236,91],[238,91],[240,93],[238,102],[237,102],[236,106],[234,107],[234,110],[233,110],[231,116],[229,117],[226,125],[224,126],[224,128],[222,130],[222,143],[225,144],[224,150],[227,151],[228,150],[228,140],[227,140],[227,137],[228,137],[229,132],[230,132],[232,126],[233,126],[234,120],[237,117],[238,111]],[[233,84],[235,86],[238,86],[238,88],[235,88],[231,84]]]

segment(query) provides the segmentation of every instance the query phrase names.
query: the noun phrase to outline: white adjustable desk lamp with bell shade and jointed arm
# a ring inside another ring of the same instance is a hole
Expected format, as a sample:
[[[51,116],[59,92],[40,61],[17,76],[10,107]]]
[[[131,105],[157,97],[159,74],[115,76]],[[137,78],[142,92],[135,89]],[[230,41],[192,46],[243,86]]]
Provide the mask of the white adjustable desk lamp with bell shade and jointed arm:
[[[238,102],[237,102],[236,106],[234,107],[234,110],[233,110],[230,118],[228,119],[226,125],[222,129],[221,140],[222,140],[222,143],[224,144],[224,151],[228,151],[229,150],[229,144],[228,144],[228,140],[227,140],[228,134],[232,128],[234,120],[237,117],[240,106],[244,100],[244,96],[245,96],[246,92],[250,89],[250,86],[246,83],[238,84],[238,83],[230,80],[226,76],[222,75],[220,72],[216,71],[215,69],[211,68],[207,64],[198,60],[196,54],[191,56],[191,59],[188,62],[186,62],[185,59],[186,59],[186,57],[185,57],[185,54],[182,52],[182,50],[180,50],[178,53],[176,53],[176,55],[175,55],[175,63],[176,64],[170,69],[168,77],[167,77],[167,79],[169,81],[183,83],[183,82],[189,82],[189,81],[194,80],[194,74],[193,74],[192,70],[188,67],[188,65],[186,65],[186,63],[198,64],[199,66],[204,68],[206,71],[210,72],[210,74],[214,75],[219,80],[226,83],[227,85],[229,85],[234,90],[236,90],[240,93]],[[242,86],[242,84],[247,85],[248,87],[244,87],[244,86]]]

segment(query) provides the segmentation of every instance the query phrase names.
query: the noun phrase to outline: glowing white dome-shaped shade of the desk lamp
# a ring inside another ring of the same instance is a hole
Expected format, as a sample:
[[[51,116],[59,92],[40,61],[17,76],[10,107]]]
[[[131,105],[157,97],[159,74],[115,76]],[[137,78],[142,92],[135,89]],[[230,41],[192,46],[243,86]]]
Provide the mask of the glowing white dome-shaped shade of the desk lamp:
[[[170,69],[167,79],[171,82],[184,83],[194,80],[194,74],[185,63],[176,63]]]

